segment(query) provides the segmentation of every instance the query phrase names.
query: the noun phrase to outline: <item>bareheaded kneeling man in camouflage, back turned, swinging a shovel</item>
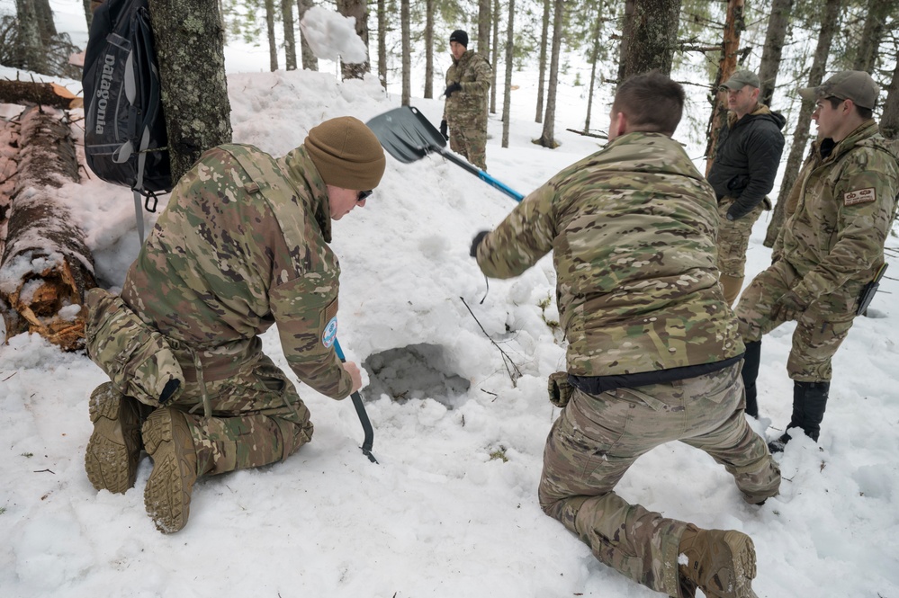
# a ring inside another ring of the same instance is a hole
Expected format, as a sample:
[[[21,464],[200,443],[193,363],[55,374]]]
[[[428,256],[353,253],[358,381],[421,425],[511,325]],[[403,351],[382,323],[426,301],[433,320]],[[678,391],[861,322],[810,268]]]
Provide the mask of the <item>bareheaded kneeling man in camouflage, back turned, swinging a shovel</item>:
[[[739,531],[629,504],[615,486],[637,458],[680,441],[733,475],[743,499],[780,472],[743,415],[743,344],[715,267],[715,192],[671,139],[683,88],[651,73],[617,91],[605,149],[528,195],[472,242],[481,271],[524,272],[553,252],[567,367],[544,450],[544,512],[601,562],[671,596],[752,596],[755,551]]]

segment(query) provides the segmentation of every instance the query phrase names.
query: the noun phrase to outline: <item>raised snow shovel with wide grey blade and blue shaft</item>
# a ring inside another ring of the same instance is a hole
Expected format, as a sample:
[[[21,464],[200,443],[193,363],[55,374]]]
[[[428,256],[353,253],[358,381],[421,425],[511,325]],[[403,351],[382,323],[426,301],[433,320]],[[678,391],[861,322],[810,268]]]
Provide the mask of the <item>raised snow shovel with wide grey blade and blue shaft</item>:
[[[481,181],[499,191],[506,193],[515,201],[522,201],[525,196],[500,183],[490,174],[475,168],[461,157],[446,149],[446,139],[434,128],[425,115],[411,106],[400,106],[389,112],[375,116],[365,124],[374,131],[387,153],[403,164],[420,160],[428,154],[440,154],[454,165],[462,166]]]

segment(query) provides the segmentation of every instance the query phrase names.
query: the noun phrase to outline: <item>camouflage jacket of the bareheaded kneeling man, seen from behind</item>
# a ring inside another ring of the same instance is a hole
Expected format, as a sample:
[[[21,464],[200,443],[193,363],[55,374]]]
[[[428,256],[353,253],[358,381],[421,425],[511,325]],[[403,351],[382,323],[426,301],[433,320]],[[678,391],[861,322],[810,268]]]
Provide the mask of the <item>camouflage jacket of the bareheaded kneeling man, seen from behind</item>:
[[[568,372],[616,376],[743,353],[715,269],[717,202],[676,141],[628,133],[556,174],[484,237],[495,278],[553,251]]]

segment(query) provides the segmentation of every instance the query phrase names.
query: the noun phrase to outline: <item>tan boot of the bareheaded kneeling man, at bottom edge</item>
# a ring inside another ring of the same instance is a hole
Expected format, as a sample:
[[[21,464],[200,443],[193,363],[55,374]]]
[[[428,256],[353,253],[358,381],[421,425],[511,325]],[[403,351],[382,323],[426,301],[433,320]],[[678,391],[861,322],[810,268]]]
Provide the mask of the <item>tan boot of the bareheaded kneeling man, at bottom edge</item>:
[[[707,598],[758,598],[752,591],[755,547],[746,534],[700,530],[690,524],[680,537],[679,554],[684,598],[693,598],[697,587]]]

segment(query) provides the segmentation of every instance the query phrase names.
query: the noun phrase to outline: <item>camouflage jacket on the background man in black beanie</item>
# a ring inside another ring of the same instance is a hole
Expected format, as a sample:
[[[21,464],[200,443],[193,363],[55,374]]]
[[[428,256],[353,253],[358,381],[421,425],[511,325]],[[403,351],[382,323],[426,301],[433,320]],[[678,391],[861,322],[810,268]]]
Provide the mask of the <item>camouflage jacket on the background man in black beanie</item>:
[[[487,92],[493,69],[487,58],[466,50],[462,58],[453,59],[446,69],[446,85],[458,83],[462,91],[446,98],[444,120],[450,129],[487,128]]]

